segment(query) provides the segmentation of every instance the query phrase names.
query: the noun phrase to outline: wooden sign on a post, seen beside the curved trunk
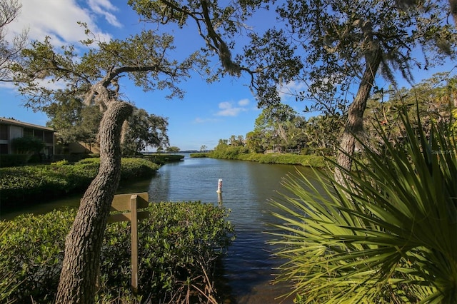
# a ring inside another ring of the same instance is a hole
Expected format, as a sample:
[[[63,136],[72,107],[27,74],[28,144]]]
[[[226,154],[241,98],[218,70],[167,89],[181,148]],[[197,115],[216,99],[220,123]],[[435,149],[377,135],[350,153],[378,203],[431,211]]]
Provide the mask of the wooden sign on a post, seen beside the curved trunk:
[[[109,223],[129,221],[131,227],[131,288],[138,292],[138,220],[147,218],[148,211],[138,211],[149,205],[149,195],[143,193],[118,194],[111,203],[111,211],[129,211],[111,214]]]

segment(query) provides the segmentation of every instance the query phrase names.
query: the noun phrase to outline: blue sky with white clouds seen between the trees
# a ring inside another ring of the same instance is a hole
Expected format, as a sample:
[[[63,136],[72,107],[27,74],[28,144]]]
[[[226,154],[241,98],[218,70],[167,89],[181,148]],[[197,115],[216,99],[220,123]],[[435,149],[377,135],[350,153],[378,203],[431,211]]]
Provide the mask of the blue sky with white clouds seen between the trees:
[[[86,39],[84,29],[77,24],[85,22],[89,29],[101,39],[123,39],[144,29],[139,16],[126,0],[23,0],[19,17],[9,24],[9,37],[29,29],[29,39],[43,41],[51,36],[56,46],[79,44]],[[268,21],[268,22],[266,22]],[[266,15],[257,16],[248,21],[253,30],[262,30],[270,26],[274,19]],[[196,50],[202,44],[201,37],[190,31],[173,31],[176,52]],[[455,65],[455,64],[454,64]],[[435,71],[416,77],[430,77]],[[144,92],[130,83],[120,83],[126,100],[148,113],[168,118],[168,136],[170,146],[177,146],[181,151],[200,150],[202,146],[214,148],[219,139],[241,135],[253,130],[254,123],[261,110],[249,90],[248,77],[222,78],[216,83],[206,83],[194,75],[181,83],[186,91],[183,99],[167,100],[168,91]],[[301,88],[299,83],[290,86]],[[49,121],[46,114],[34,112],[24,107],[24,97],[20,96],[14,86],[0,83],[0,117],[14,118],[26,123],[45,126]],[[283,102],[291,105],[298,113],[305,104],[289,101],[284,96]]]

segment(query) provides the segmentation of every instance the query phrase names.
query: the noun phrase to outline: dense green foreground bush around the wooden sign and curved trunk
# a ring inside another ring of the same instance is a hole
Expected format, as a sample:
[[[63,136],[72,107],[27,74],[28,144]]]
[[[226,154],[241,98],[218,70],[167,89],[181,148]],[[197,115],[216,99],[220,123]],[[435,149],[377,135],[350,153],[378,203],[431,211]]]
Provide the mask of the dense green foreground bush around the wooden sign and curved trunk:
[[[102,248],[99,303],[148,298],[152,303],[200,302],[200,290],[211,290],[216,259],[233,238],[227,212],[211,204],[153,203],[150,216],[139,222],[139,288],[130,291],[130,226],[108,224]],[[0,298],[19,303],[33,298],[50,303],[56,292],[64,253],[64,238],[76,211],[53,211],[44,216],[24,215],[0,222]],[[206,276],[208,275],[208,277]],[[11,277],[12,276],[12,277]],[[5,285],[20,283],[15,290]],[[190,292],[188,293],[188,288]],[[197,289],[198,288],[198,289]],[[9,294],[5,294],[9,293]],[[215,298],[216,295],[206,295]]]

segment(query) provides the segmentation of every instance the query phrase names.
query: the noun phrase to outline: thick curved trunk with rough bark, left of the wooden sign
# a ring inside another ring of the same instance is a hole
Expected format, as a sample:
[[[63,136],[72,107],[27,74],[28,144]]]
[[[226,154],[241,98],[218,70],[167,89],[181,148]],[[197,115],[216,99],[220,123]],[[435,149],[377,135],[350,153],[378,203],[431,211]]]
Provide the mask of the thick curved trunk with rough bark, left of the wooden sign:
[[[101,120],[100,169],[66,236],[56,303],[94,303],[106,221],[121,178],[121,128],[132,110],[129,103],[111,101]]]

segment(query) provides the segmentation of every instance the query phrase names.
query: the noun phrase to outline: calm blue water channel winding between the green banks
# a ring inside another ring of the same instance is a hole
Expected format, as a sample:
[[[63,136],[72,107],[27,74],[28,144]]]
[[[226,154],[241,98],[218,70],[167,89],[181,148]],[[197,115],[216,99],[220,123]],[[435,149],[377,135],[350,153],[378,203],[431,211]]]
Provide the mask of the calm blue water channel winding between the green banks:
[[[231,210],[229,221],[236,230],[236,240],[224,258],[224,280],[231,293],[232,303],[292,303],[292,298],[276,299],[288,289],[272,285],[274,268],[281,261],[271,258],[272,248],[266,243],[272,231],[268,223],[276,223],[269,215],[268,200],[278,198],[276,191],[284,192],[281,178],[295,171],[294,166],[226,161],[214,158],[189,158],[162,166],[150,181],[121,186],[119,193],[148,191],[149,200],[202,201],[221,203]],[[310,176],[309,168],[298,170]],[[216,193],[222,178],[222,195]],[[58,206],[78,206],[79,196],[31,208],[26,212],[44,213]],[[24,212],[24,211],[21,211]],[[19,212],[18,212],[19,213]],[[3,213],[11,218],[15,213]]]

